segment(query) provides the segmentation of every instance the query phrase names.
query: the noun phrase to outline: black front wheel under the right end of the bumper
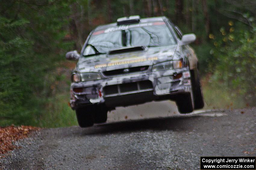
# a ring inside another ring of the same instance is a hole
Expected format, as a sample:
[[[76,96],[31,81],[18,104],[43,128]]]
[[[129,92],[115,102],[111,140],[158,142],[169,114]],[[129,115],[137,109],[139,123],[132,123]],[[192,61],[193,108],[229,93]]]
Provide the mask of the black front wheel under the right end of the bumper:
[[[188,94],[179,94],[176,97],[176,105],[180,113],[189,113],[193,112],[193,100],[192,95]]]

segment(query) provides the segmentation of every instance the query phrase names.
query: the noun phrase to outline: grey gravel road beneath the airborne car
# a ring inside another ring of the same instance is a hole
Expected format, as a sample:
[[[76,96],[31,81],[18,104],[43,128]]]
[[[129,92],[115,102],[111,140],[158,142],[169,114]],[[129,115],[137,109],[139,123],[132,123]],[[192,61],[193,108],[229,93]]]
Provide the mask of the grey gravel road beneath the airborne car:
[[[106,124],[20,140],[0,169],[199,169],[200,156],[255,156],[255,121],[256,108],[190,115],[161,102],[119,108]]]

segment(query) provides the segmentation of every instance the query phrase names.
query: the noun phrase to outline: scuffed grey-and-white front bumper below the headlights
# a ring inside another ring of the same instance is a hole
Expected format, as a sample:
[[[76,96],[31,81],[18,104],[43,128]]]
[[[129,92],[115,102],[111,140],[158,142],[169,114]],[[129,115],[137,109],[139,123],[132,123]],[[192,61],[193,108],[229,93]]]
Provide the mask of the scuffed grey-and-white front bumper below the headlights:
[[[147,82],[147,84],[150,82],[150,86],[145,86],[144,82]],[[127,85],[127,87],[123,87],[124,85]],[[110,87],[112,88],[111,92],[109,91]],[[83,88],[83,91],[75,92],[74,89],[76,88]],[[71,83],[70,106],[72,109],[76,109],[90,104],[105,103],[108,105],[108,102],[105,102],[108,98],[112,100],[120,96],[150,91],[152,96],[157,98],[166,95],[189,93],[191,89],[188,67],[168,71],[140,72],[95,81]],[[155,98],[151,97],[149,100],[154,100]],[[125,106],[125,101],[123,102],[123,106]],[[113,103],[111,107],[115,107]]]

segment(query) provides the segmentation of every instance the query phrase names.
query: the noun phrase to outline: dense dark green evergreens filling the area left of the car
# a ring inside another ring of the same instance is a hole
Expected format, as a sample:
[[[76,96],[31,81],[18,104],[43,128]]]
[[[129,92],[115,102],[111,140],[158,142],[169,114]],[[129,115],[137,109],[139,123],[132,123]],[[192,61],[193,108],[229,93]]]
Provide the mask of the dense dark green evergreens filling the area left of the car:
[[[61,2],[42,2],[1,4],[0,126],[38,125],[51,93],[45,77],[70,45],[62,42],[69,10]]]

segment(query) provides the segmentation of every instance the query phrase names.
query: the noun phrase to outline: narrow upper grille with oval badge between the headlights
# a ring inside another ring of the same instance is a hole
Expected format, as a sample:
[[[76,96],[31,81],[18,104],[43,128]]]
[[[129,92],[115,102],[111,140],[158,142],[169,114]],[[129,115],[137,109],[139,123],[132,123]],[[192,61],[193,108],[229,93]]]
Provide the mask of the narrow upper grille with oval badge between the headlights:
[[[104,71],[103,74],[105,76],[114,76],[119,74],[129,74],[133,72],[145,71],[148,70],[149,66],[139,66],[139,67],[130,67],[130,68],[122,68],[117,70]],[[127,71],[127,72],[125,72]]]

